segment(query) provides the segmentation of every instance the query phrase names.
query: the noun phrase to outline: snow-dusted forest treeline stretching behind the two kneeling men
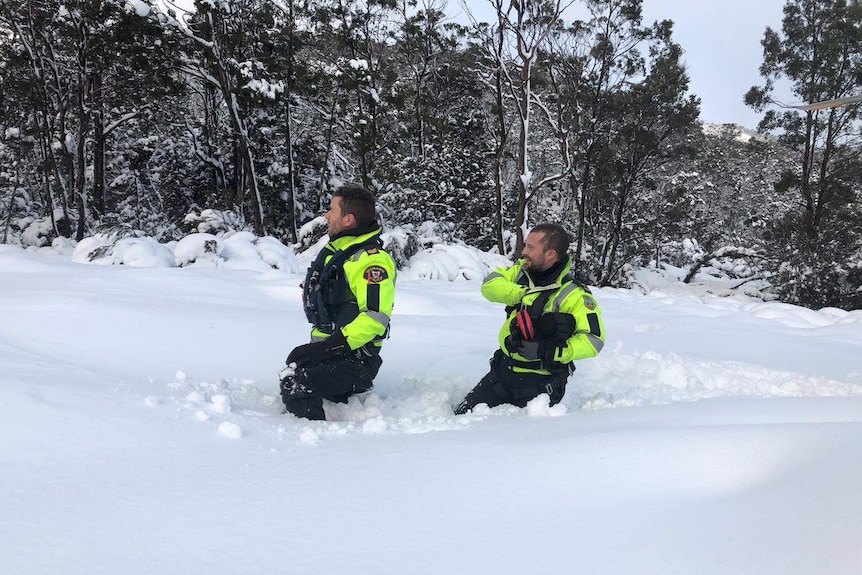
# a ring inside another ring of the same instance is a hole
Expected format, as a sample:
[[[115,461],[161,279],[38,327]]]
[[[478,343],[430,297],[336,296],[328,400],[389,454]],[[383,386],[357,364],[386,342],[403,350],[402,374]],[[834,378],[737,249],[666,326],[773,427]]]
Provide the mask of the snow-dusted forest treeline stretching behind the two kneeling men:
[[[217,210],[301,249],[355,181],[401,262],[432,236],[517,253],[556,221],[590,283],[722,260],[784,301],[862,308],[859,106],[772,95],[855,94],[858,1],[790,0],[765,30],[744,97],[768,138],[700,124],[673,23],[641,0],[576,21],[486,2],[458,24],[439,0],[0,0],[0,241],[170,241]]]

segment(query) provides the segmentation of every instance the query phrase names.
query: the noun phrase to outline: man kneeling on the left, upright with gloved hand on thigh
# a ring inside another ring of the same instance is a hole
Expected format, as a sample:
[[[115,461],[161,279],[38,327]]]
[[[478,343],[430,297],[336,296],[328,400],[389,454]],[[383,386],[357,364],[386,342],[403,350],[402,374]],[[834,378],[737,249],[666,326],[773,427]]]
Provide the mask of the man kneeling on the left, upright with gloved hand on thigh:
[[[395,263],[383,251],[374,194],[357,185],[332,195],[329,242],[305,277],[311,343],[287,356],[281,398],[287,411],[326,419],[323,400],[346,402],[371,389],[395,302]]]

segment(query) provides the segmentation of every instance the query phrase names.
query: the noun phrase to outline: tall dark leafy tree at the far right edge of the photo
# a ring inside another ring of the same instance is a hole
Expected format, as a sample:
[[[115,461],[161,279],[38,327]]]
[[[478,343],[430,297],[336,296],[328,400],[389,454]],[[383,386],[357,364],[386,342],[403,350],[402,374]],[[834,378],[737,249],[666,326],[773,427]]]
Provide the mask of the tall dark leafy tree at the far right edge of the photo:
[[[862,85],[862,6],[858,0],[788,0],[781,30],[761,41],[764,83],[745,102],[766,111],[763,131],[796,149],[799,161],[776,190],[797,209],[775,223],[772,264],[783,297],[810,306],[849,305],[862,273],[860,104],[800,112],[778,105],[788,90],[806,103],[856,95]],[[785,98],[786,99],[786,98]],[[853,304],[855,305],[855,304]]]

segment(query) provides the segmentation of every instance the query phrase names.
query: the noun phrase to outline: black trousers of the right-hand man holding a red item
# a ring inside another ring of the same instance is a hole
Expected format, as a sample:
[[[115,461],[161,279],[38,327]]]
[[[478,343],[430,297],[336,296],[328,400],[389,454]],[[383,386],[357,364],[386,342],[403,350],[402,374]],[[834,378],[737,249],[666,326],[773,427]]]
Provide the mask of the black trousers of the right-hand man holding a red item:
[[[480,403],[487,403],[488,407],[504,403],[526,407],[527,403],[542,393],[547,393],[551,398],[551,405],[556,405],[566,394],[568,369],[542,375],[515,372],[511,368],[510,358],[498,350],[491,359],[491,371],[476,384],[464,401],[458,404],[455,414],[467,413]]]

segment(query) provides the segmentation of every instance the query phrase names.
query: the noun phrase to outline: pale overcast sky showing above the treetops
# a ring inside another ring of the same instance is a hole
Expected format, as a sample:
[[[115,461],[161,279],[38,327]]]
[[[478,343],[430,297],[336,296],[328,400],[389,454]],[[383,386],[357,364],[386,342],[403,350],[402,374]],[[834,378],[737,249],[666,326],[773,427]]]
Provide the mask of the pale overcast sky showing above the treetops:
[[[466,4],[476,14],[490,14],[487,0],[466,0]],[[701,99],[701,120],[757,127],[761,115],[747,107],[742,97],[751,86],[762,83],[760,40],[767,26],[781,29],[784,4],[785,0],[644,0],[644,23],[674,21],[673,36],[685,50],[690,91]],[[456,19],[462,5],[450,0]],[[573,10],[579,5],[575,0]],[[571,19],[577,17],[584,16]]]

